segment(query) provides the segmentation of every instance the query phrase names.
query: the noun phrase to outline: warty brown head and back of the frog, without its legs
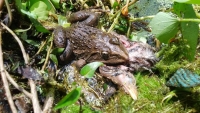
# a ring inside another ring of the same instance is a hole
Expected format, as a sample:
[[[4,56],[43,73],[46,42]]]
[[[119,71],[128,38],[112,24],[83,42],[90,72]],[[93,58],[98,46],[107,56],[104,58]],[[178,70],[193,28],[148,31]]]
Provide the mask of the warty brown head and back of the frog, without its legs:
[[[73,53],[87,62],[122,63],[128,54],[117,37],[83,24],[66,29],[66,37],[73,46]]]

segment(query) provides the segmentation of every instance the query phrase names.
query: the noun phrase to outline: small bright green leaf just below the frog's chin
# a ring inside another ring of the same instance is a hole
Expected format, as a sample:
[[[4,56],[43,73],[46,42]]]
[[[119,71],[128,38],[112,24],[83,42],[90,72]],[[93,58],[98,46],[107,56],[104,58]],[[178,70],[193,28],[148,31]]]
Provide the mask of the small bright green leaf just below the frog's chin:
[[[87,77],[87,78],[92,78],[94,76],[94,72],[99,66],[102,66],[102,62],[92,62],[87,65],[85,65],[82,69],[80,74]]]

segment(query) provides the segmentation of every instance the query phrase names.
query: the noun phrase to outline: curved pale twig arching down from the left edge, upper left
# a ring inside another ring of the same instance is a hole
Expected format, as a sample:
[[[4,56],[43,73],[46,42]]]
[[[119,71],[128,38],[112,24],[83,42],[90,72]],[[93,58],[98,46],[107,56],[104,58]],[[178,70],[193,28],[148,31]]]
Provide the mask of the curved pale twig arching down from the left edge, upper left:
[[[22,42],[19,40],[19,38],[17,37],[17,35],[16,35],[10,28],[8,28],[8,27],[7,27],[5,24],[3,24],[2,22],[1,22],[1,25],[2,25],[4,28],[6,28],[6,30],[7,30],[8,32],[10,32],[10,34],[13,35],[13,37],[15,38],[15,40],[17,41],[17,43],[19,44],[20,49],[21,49],[22,54],[23,54],[23,57],[24,57],[25,64],[27,65],[27,64],[28,64],[28,57],[27,57],[27,55],[26,55],[26,52],[25,52],[25,49],[24,49],[24,46],[23,46]]]

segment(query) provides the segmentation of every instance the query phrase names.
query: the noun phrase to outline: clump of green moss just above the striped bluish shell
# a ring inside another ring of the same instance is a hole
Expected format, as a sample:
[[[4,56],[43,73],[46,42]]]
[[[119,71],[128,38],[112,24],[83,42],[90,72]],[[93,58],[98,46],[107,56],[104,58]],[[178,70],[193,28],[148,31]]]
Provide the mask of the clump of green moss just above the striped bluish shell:
[[[166,45],[158,53],[159,58],[161,59],[156,65],[156,69],[160,72],[161,76],[168,77],[172,75],[181,67],[185,67],[189,63],[184,57],[184,50],[186,45],[184,41],[179,40],[180,42],[172,43]]]

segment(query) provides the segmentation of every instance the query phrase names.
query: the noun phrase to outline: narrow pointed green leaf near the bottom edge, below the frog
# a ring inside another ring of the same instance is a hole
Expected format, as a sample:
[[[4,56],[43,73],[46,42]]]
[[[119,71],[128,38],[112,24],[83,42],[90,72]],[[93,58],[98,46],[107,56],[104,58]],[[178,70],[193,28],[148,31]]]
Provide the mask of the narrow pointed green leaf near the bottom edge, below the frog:
[[[64,98],[62,98],[58,104],[54,107],[54,110],[63,108],[65,106],[69,106],[75,103],[81,95],[81,87],[77,87],[72,90],[69,94],[67,94]]]

